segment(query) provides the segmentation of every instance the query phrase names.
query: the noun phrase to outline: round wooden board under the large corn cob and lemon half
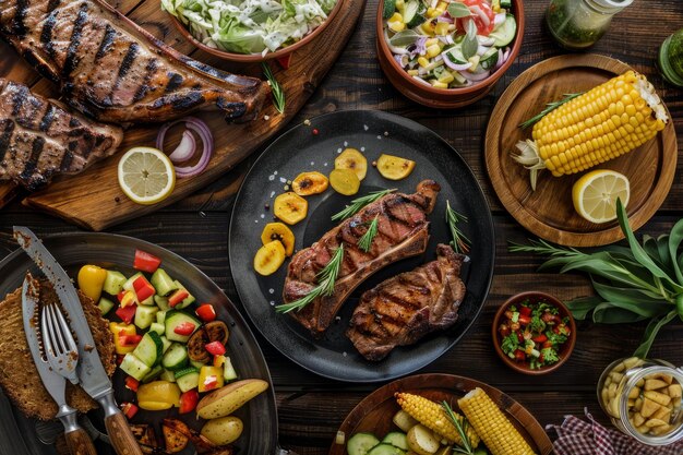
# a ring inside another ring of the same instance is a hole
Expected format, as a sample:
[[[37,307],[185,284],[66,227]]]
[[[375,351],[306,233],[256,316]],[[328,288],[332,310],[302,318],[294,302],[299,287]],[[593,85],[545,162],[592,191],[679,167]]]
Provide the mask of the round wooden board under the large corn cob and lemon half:
[[[583,173],[555,178],[543,171],[531,191],[529,172],[512,159],[511,152],[531,135],[530,129],[517,125],[543,110],[547,103],[588,91],[630,69],[604,56],[555,57],[526,70],[499,99],[487,129],[487,169],[503,206],[532,234],[567,247],[598,247],[624,238],[616,220],[596,225],[575,212],[572,187]],[[596,167],[619,171],[631,181],[627,212],[634,230],[647,223],[667,197],[676,158],[675,130],[670,121],[654,140]]]

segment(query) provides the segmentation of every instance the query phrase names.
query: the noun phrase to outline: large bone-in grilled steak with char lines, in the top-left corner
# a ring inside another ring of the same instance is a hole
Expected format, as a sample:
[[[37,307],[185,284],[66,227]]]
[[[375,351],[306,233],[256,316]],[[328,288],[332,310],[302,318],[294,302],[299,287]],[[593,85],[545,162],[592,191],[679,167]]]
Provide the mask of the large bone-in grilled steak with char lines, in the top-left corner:
[[[72,107],[103,121],[166,121],[204,107],[249,120],[269,91],[181,55],[103,0],[2,0],[0,35]]]

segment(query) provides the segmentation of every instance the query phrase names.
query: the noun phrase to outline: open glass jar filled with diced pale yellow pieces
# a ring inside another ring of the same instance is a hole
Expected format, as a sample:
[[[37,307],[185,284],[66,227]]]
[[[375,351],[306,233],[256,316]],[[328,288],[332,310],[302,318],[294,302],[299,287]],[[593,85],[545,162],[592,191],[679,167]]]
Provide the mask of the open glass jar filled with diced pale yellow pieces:
[[[612,423],[648,445],[683,439],[683,370],[656,359],[619,359],[598,381],[598,400]]]

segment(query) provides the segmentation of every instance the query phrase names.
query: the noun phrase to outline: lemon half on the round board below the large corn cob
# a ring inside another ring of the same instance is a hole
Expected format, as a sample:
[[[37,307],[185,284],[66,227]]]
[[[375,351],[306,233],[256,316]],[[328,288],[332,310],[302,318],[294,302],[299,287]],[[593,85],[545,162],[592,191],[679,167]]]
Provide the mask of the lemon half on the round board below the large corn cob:
[[[623,173],[598,169],[586,173],[574,183],[572,199],[576,212],[592,223],[616,219],[616,199],[628,204],[631,185]]]

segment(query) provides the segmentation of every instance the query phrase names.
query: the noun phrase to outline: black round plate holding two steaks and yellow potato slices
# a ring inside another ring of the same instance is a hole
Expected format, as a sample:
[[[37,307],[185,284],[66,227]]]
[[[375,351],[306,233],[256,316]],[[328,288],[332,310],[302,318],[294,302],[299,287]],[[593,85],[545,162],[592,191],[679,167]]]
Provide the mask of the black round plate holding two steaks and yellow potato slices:
[[[414,193],[417,184],[433,179],[442,187],[436,207],[430,215],[431,238],[427,251],[417,258],[394,263],[374,274],[356,289],[333,324],[320,339],[313,338],[292,318],[277,314],[286,262],[277,273],[263,277],[253,270],[253,258],[261,247],[261,230],[272,221],[275,196],[285,182],[299,172],[317,170],[325,175],[345,147],[354,147],[368,158],[368,175],[355,196],[343,196],[332,188],[308,196],[307,218],[292,226],[296,249],[311,246],[335,226],[329,217],[354,197],[383,188]],[[417,163],[412,173],[400,181],[384,179],[370,164],[382,154],[397,155]],[[410,271],[435,259],[438,243],[451,238],[445,223],[446,200],[467,216],[462,229],[472,240],[471,261],[463,270],[467,295],[456,324],[445,332],[430,334],[417,344],[394,349],[381,362],[360,356],[344,335],[350,314],[362,292],[398,273]],[[424,367],[448,350],[465,334],[479,314],[493,276],[495,243],[493,221],[486,197],[465,160],[431,130],[403,117],[354,110],[327,113],[299,124],[275,141],[259,157],[238,193],[229,234],[230,270],[239,297],[254,325],[285,356],[322,376],[348,382],[386,381]]]

